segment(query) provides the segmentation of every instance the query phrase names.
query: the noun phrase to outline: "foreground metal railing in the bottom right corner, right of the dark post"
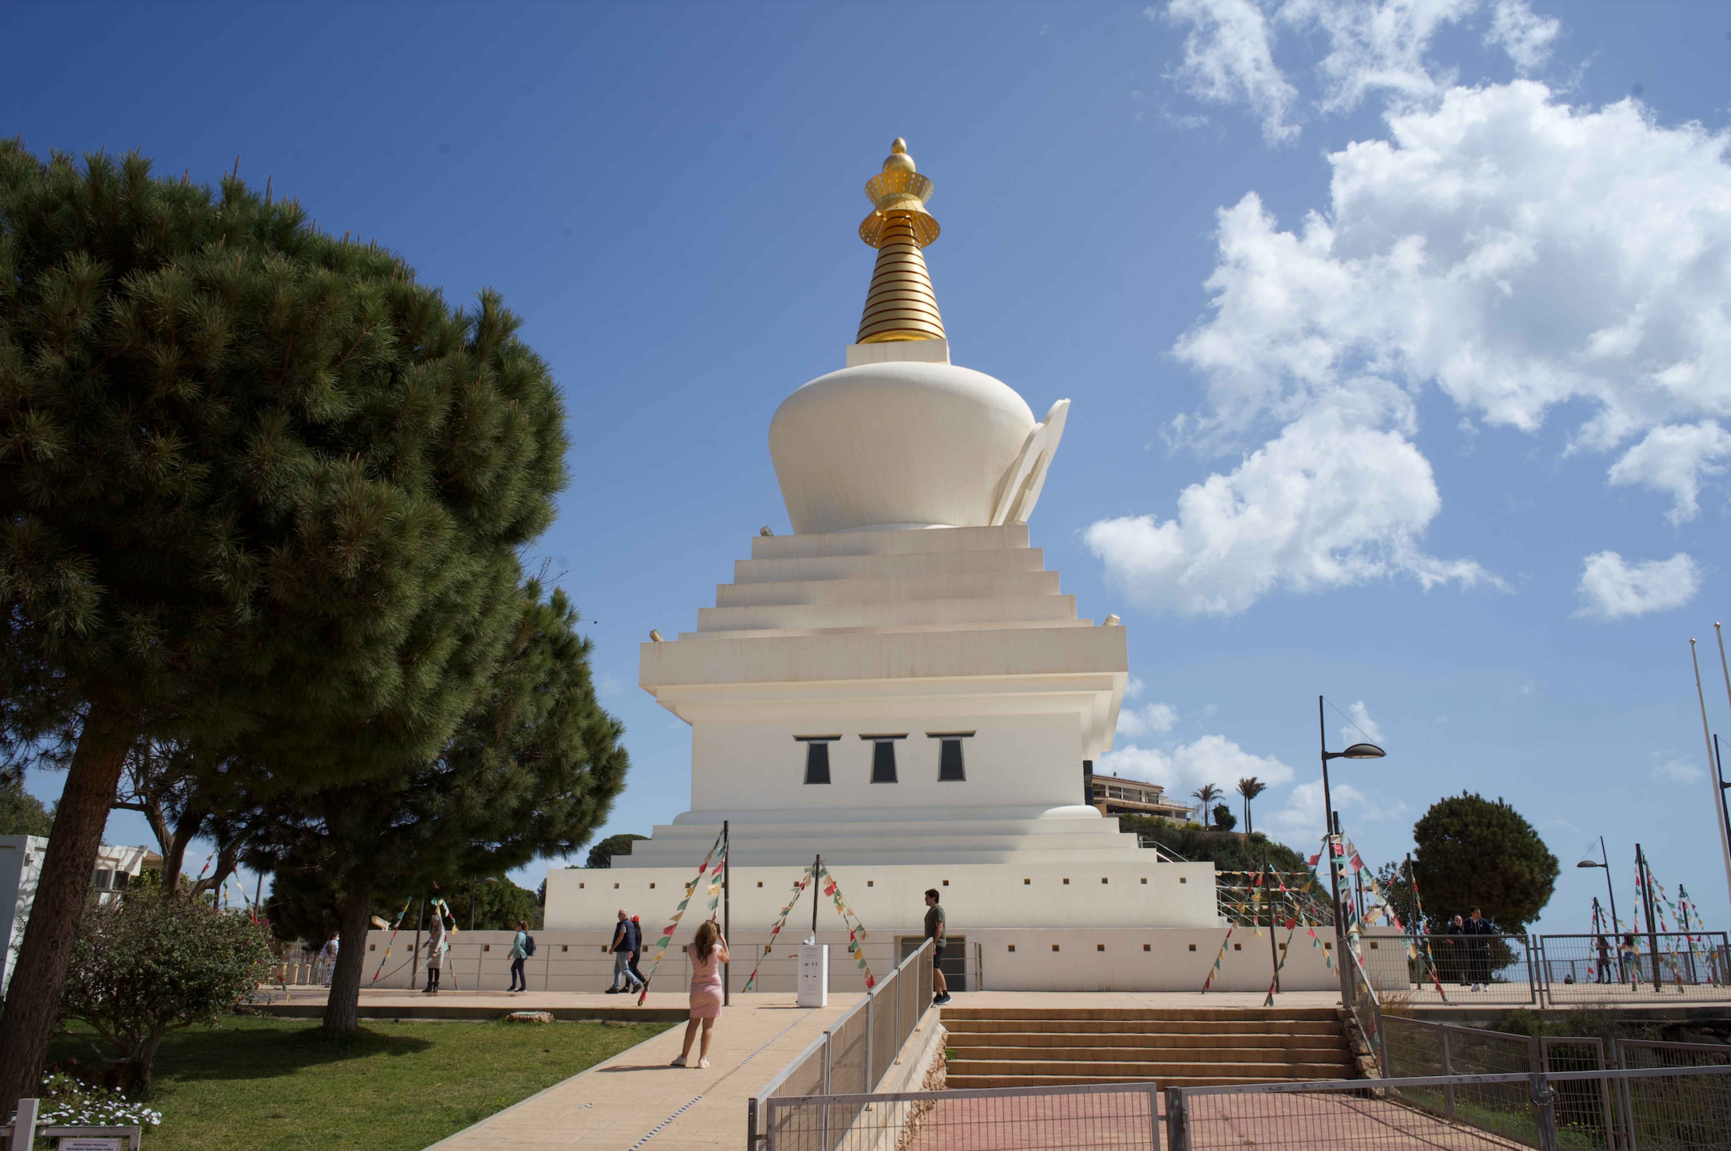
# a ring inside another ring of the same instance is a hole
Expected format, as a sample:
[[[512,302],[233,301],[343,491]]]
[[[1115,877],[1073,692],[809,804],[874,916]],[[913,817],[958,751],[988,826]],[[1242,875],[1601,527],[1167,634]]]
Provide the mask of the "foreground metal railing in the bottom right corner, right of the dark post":
[[[1731,1130],[1731,1066],[1168,1087],[1165,1104],[1172,1151],[1708,1151]]]

